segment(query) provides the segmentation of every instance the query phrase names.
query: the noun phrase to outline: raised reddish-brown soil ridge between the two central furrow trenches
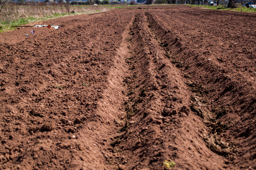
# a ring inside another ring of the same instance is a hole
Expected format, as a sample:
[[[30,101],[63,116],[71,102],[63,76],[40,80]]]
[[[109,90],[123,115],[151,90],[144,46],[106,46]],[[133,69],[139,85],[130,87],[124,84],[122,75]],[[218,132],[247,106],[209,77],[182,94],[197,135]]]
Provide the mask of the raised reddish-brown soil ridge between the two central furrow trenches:
[[[191,92],[154,38],[146,15],[135,15],[130,35],[129,120],[119,144],[124,155],[134,158],[126,160],[127,168],[161,169],[167,161],[176,163],[177,169],[192,164],[196,168],[195,162],[197,168],[210,169],[212,164],[221,168],[222,158],[210,151],[203,139],[208,128],[189,107]]]

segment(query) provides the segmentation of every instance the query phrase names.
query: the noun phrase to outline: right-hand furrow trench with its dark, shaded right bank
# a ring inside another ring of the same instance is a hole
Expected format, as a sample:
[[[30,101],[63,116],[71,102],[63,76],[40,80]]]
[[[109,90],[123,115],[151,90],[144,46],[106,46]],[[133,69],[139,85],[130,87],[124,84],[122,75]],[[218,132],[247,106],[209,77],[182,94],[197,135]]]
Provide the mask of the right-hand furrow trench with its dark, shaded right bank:
[[[238,138],[237,131],[242,133],[241,142],[247,141],[243,138],[244,132],[246,129],[253,131],[255,127],[254,122],[250,121],[254,117],[251,113],[255,110],[255,81],[243,74],[238,73],[238,76],[233,67],[226,69],[226,66],[215,59],[206,58],[207,55],[199,53],[201,48],[189,48],[187,41],[177,37],[168,29],[170,26],[166,27],[169,22],[158,21],[155,14],[147,14],[147,18],[171,62],[180,68],[187,79],[186,83],[191,87],[191,109],[210,128],[210,133],[204,137],[208,147],[217,154],[224,155],[225,159],[234,161],[233,155],[237,150],[248,147],[232,142]],[[241,82],[245,84],[243,88]]]

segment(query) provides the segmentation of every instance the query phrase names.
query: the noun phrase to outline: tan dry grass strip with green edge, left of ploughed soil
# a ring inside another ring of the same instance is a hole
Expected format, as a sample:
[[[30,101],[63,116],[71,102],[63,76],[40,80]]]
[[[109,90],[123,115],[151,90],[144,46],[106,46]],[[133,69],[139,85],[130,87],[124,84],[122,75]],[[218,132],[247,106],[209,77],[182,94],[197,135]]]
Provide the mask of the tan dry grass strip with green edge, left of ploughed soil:
[[[54,3],[52,5],[46,3],[15,5],[14,3],[6,3],[0,13],[0,32],[10,30],[15,25],[60,18],[66,15],[90,14],[108,10],[110,8],[92,5],[68,6]]]

